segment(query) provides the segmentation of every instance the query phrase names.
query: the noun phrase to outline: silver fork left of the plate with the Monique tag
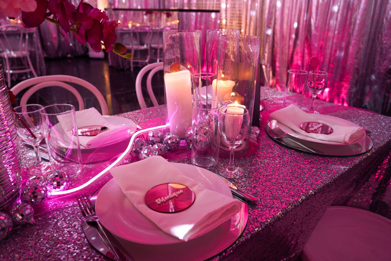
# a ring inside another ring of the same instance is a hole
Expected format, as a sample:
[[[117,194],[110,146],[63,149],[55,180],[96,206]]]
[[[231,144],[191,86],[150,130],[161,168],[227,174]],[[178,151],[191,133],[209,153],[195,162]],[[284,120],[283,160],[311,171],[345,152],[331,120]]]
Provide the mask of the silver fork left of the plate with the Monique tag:
[[[86,194],[82,194],[82,196],[76,196],[77,198],[77,204],[79,205],[79,209],[81,211],[81,214],[83,214],[84,220],[86,223],[92,227],[95,227],[95,229],[98,230],[98,233],[104,243],[107,245],[107,247],[110,249],[112,254],[116,257],[116,260],[118,261],[130,261],[125,254],[121,253],[121,255],[118,255],[118,252],[120,251],[117,249],[114,244],[111,242],[111,240],[108,238],[106,233],[104,232],[104,229],[102,225],[100,225],[99,218],[97,214],[95,213],[95,207],[90,202],[90,199]],[[133,259],[131,259],[133,260]]]

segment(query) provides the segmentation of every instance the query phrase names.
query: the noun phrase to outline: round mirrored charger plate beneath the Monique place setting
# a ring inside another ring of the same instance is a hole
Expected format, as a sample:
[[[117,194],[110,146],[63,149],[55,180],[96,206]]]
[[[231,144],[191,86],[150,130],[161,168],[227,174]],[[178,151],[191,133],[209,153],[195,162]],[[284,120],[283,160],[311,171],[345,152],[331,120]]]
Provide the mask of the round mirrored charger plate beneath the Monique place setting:
[[[100,189],[98,189],[90,198],[93,205],[95,205],[99,191]],[[247,225],[249,212],[247,203],[242,204],[242,206],[241,211],[234,218],[231,218],[230,221],[227,220],[227,222],[221,224],[211,232],[189,240],[188,242],[170,245],[145,245],[118,238],[111,234],[108,230],[105,230],[105,232],[111,241],[118,243],[116,244],[116,247],[118,247],[129,260],[171,261],[173,258],[176,260],[187,261],[205,260],[217,256],[226,250],[243,234]],[[109,259],[116,260],[109,248],[105,245],[102,239],[100,239],[98,231],[94,227],[89,226],[84,220],[82,220],[81,223],[84,234],[91,245],[98,250],[100,254],[108,257]],[[214,238],[211,237],[215,230],[221,231],[222,234],[224,234],[224,238],[220,242],[216,242],[213,240]],[[200,249],[207,251],[199,251]],[[140,259],[140,257],[142,258]]]

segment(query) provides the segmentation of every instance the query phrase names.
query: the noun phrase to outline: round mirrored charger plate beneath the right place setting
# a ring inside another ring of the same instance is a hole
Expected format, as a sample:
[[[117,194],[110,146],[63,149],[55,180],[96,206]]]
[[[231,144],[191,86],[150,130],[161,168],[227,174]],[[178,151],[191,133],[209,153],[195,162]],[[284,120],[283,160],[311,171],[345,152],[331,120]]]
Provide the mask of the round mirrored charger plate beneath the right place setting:
[[[267,125],[278,135],[285,135],[284,132],[280,129],[278,126],[278,121],[276,120],[271,120],[267,123]],[[354,144],[341,144],[341,145],[335,145],[335,144],[321,144],[321,143],[316,143],[316,142],[310,142],[307,140],[302,140],[295,138],[291,135],[285,135],[293,140],[297,140],[298,142],[310,146],[315,149],[319,149],[324,152],[323,155],[326,156],[341,156],[341,157],[349,157],[349,156],[355,156],[355,155],[360,155],[362,153],[366,153],[373,147],[373,142],[371,137],[369,135],[365,135],[364,139],[362,139],[360,142],[354,143]],[[269,136],[270,137],[270,136]],[[270,137],[273,139],[272,137]],[[300,145],[296,144],[295,142],[292,142],[291,140],[288,139],[273,139],[276,142],[287,146],[292,149],[297,149],[300,151],[304,151],[307,153],[312,153],[308,151],[307,149],[300,147]],[[312,153],[316,154],[317,153]]]

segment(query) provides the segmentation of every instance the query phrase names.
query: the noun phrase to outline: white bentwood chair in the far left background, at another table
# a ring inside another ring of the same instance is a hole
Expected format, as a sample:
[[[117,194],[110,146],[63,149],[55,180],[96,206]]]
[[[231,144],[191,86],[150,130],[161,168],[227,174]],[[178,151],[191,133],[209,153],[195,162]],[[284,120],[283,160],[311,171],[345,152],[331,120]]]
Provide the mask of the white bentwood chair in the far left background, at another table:
[[[29,54],[29,34],[22,25],[0,26],[0,57],[4,63],[4,72],[7,77],[8,88],[11,88],[11,74],[31,72],[37,74],[32,66]],[[20,63],[17,63],[20,61]],[[17,65],[11,66],[12,63]]]

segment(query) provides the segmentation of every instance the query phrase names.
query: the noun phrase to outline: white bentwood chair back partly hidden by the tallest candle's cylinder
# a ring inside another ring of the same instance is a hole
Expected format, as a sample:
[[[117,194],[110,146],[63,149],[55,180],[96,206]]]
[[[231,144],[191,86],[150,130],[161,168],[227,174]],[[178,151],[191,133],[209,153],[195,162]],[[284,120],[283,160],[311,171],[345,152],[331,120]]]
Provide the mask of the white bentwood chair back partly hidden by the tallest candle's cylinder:
[[[149,72],[147,76],[147,91],[149,97],[151,97],[153,106],[158,106],[159,105],[158,101],[156,100],[156,97],[152,91],[152,76],[154,76],[156,72],[163,70],[163,62],[151,63],[149,65],[146,65],[144,68],[140,70],[140,72],[136,77],[136,95],[137,95],[138,104],[140,104],[140,107],[142,109],[147,108],[147,105],[145,104],[143,93],[141,90],[141,80],[143,79],[144,74],[146,74],[149,70],[151,70],[151,72]]]

